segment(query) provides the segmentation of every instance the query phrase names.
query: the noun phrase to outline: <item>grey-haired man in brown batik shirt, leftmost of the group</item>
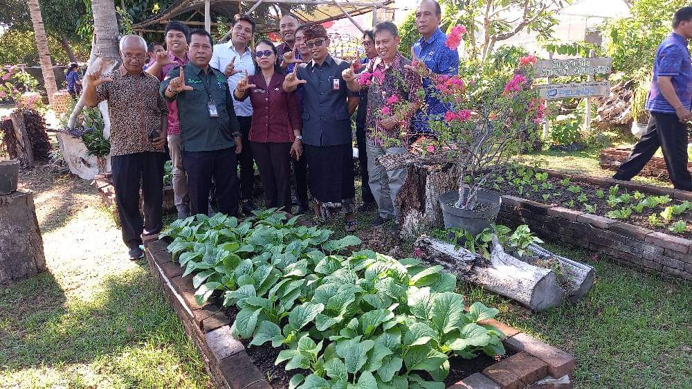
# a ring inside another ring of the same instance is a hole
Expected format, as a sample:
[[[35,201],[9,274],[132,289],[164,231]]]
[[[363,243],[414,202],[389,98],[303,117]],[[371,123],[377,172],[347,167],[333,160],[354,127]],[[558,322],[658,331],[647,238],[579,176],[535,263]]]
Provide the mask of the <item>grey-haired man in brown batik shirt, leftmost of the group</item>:
[[[84,104],[95,107],[107,100],[111,120],[111,167],[122,240],[129,257],[143,257],[143,235],[163,228],[163,146],[168,108],[158,93],[159,82],[143,71],[147,42],[136,35],[120,39],[120,68],[102,76],[102,69],[87,75]],[[144,200],[144,221],[139,212],[139,191]]]

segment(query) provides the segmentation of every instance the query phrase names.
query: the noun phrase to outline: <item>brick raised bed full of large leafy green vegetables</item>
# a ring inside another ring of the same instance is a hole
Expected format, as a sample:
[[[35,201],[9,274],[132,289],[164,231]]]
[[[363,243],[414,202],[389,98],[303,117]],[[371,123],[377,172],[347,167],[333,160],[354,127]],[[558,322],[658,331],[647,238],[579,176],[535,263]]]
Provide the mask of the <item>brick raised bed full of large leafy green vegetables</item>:
[[[439,266],[367,250],[345,257],[339,253],[358,244],[357,238],[329,240],[329,232],[295,226],[295,219],[282,226],[272,217],[254,225],[223,218],[203,220],[216,224],[212,228],[182,221],[174,224],[171,235],[177,237],[169,246],[147,244],[152,273],[207,356],[219,386],[268,388],[269,379],[275,388],[444,388],[479,371],[464,380],[464,387],[519,388],[547,374],[563,377],[574,370],[568,354],[492,320],[496,309],[475,303],[464,312],[462,296],[453,292],[455,278]],[[239,240],[228,239],[232,231]],[[300,239],[296,234],[313,236]],[[279,250],[284,237],[290,243]],[[215,250],[207,239],[221,242]],[[302,253],[286,264],[295,250]],[[228,273],[231,262],[240,259],[233,255],[246,259]],[[397,289],[404,284],[408,290]],[[403,294],[389,296],[395,290]],[[208,300],[219,292],[223,304]],[[509,338],[500,341],[502,332]],[[252,345],[246,350],[243,343]],[[498,363],[490,356],[470,363],[457,357],[505,354],[505,345],[509,354],[516,354],[498,358]],[[298,370],[277,374],[273,356],[278,368]],[[455,372],[447,374],[451,368]]]

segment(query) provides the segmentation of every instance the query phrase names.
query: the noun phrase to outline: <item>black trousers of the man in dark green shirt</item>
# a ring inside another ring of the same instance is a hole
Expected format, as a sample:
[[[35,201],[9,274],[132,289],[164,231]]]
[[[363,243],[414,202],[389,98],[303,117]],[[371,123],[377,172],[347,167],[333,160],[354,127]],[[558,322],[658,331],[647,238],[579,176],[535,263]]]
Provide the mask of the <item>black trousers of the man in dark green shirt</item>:
[[[209,190],[214,180],[219,212],[229,216],[238,213],[238,174],[235,146],[212,152],[181,152],[188,177],[190,213],[207,214]]]

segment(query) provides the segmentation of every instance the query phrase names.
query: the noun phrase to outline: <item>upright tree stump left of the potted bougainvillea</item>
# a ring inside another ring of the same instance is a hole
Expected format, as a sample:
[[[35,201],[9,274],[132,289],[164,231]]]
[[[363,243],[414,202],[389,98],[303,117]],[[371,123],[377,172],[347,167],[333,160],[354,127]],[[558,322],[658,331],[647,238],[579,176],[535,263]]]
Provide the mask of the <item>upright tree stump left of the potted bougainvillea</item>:
[[[434,228],[443,228],[440,194],[459,188],[455,165],[410,165],[406,181],[397,194],[399,225],[403,237],[415,238]]]

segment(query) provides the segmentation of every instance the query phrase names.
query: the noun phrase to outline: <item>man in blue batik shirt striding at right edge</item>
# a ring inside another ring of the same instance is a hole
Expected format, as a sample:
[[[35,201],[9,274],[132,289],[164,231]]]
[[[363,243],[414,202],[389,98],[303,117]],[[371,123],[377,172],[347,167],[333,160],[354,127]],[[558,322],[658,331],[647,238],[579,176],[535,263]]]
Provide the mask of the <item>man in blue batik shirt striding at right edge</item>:
[[[687,123],[692,119],[692,63],[687,49],[690,38],[692,7],[683,7],[673,16],[673,32],[656,51],[646,100],[650,113],[646,134],[618,168],[614,179],[629,181],[662,147],[675,189],[692,190],[692,177],[687,170]]]

